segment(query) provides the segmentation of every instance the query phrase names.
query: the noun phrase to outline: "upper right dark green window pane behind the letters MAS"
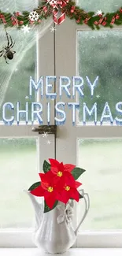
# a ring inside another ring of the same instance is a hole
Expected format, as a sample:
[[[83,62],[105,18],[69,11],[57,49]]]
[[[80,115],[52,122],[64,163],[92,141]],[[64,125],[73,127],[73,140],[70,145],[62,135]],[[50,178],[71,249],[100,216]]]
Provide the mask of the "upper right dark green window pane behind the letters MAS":
[[[121,102],[122,90],[122,34],[119,31],[90,31],[78,32],[78,73],[83,77],[83,98],[79,98],[79,122],[83,124],[83,102],[91,110],[94,102],[97,102],[98,124],[102,117],[105,102],[108,102],[110,111],[115,118],[120,118],[120,113],[116,112],[116,103]],[[94,94],[91,97],[90,83],[94,83],[98,76],[98,82],[94,87]],[[121,108],[121,107],[120,107]],[[109,114],[109,112],[105,113]],[[86,121],[94,121],[94,114],[88,115],[86,111]],[[103,123],[110,124],[110,118],[104,118]]]

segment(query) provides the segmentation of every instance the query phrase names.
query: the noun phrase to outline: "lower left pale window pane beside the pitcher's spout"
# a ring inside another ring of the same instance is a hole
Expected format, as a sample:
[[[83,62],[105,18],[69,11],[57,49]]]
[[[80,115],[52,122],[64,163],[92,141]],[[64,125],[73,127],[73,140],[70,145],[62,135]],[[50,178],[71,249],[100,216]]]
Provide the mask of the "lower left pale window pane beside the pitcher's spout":
[[[39,180],[36,139],[0,139],[0,228],[30,228],[34,217],[24,192]]]

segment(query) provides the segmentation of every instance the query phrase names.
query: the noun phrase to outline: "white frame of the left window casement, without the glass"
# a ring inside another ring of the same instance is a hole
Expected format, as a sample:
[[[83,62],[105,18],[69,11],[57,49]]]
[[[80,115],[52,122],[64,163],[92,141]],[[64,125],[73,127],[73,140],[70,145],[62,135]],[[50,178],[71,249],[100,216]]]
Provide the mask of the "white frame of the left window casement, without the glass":
[[[37,80],[40,76],[54,76],[54,34],[49,31],[41,39],[37,35],[36,40],[36,61],[37,61]],[[48,65],[47,65],[48,63]],[[29,79],[29,77],[28,77]],[[42,102],[38,93],[37,102]],[[43,99],[43,109],[46,108],[46,98]],[[54,124],[54,101],[51,101],[51,124]],[[43,111],[43,124],[46,124],[46,115]],[[46,140],[38,132],[32,132],[32,127],[38,127],[39,124],[25,125],[21,122],[20,125],[13,124],[12,126],[0,125],[0,138],[38,138],[37,142],[37,158],[38,158],[38,173],[42,171],[43,161],[48,158],[55,158],[55,136],[48,135],[51,144],[47,146]],[[27,188],[28,189],[28,188]],[[23,188],[22,188],[23,190]],[[25,195],[27,196],[27,195]],[[28,200],[30,200],[28,198]],[[31,202],[30,202],[31,204]],[[32,228],[3,228],[0,229],[0,247],[35,247],[32,242]]]

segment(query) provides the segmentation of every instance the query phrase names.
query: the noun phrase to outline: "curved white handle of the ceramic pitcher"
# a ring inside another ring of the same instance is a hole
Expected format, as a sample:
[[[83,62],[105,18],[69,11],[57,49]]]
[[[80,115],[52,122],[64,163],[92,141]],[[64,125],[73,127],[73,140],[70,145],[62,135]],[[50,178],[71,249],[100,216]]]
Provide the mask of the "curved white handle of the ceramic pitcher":
[[[76,230],[75,230],[75,234],[77,234],[78,230],[79,230],[79,227],[80,225],[82,224],[82,222],[84,221],[85,217],[87,216],[87,213],[90,209],[90,198],[89,198],[89,195],[87,193],[84,193],[83,189],[80,189],[79,191],[82,191],[83,192],[83,199],[84,199],[84,202],[85,202],[85,212],[83,214],[83,217],[81,219],[81,221],[79,221],[79,224],[77,225],[76,227]]]

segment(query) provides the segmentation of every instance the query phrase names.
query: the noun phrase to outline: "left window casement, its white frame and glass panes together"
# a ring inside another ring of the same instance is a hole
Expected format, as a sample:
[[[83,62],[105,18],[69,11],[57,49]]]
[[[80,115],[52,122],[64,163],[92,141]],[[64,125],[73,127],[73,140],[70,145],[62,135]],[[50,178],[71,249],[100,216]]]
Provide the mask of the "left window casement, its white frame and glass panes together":
[[[2,11],[13,12],[13,10],[22,11],[23,9],[34,9],[37,2],[33,1],[0,1]],[[48,24],[49,23],[49,24]],[[43,23],[45,25],[45,22]],[[43,26],[43,25],[42,25]],[[47,28],[50,22],[47,21]],[[50,54],[46,75],[54,75],[54,35],[50,34],[50,48],[45,38],[41,38],[39,33],[32,30],[27,35],[17,28],[7,28],[7,32],[15,40],[16,54],[12,61],[6,64],[4,58],[0,58],[0,152],[1,152],[1,172],[0,172],[0,204],[2,210],[0,213],[0,247],[33,247],[31,240],[32,230],[34,228],[34,210],[28,195],[24,190],[28,190],[35,180],[39,180],[38,173],[42,170],[44,159],[55,158],[54,155],[54,135],[48,135],[51,144],[47,145],[47,140],[39,135],[38,132],[32,132],[33,127],[39,124],[25,125],[25,115],[20,116],[20,125],[17,125],[17,101],[20,101],[20,109],[25,110],[25,102],[31,104],[39,101],[39,94],[28,98],[30,76],[36,81],[42,75],[45,76],[47,54]],[[0,28],[1,42],[0,48],[6,44],[6,33]],[[47,35],[45,35],[47,36]],[[44,40],[44,41],[43,41]],[[52,55],[51,55],[52,54]],[[46,62],[41,62],[46,57]],[[41,62],[41,63],[40,63]],[[42,65],[42,66],[40,66]],[[14,115],[14,124],[6,125],[2,121],[2,106],[5,102],[12,102],[15,109],[6,111],[6,118]],[[52,107],[53,107],[53,101]],[[43,100],[43,104],[46,102]],[[30,108],[30,105],[29,105]],[[30,111],[31,112],[31,111]],[[51,111],[53,115],[53,111]],[[45,113],[43,114],[45,117]],[[46,120],[43,117],[43,124]],[[29,121],[31,120],[31,113]],[[53,120],[53,117],[51,117]]]

